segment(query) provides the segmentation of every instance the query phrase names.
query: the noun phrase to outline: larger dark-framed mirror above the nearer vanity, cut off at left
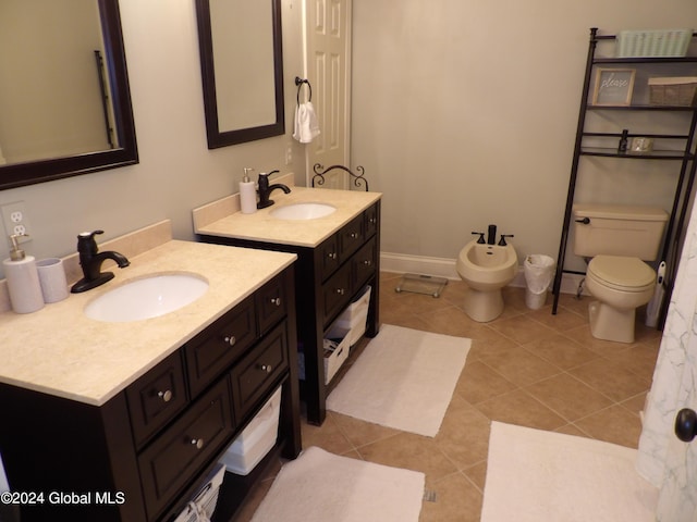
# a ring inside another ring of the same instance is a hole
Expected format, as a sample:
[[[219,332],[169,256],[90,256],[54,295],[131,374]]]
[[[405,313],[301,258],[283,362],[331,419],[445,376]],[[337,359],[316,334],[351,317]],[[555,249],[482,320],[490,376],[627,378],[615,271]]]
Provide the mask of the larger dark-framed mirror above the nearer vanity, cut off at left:
[[[118,0],[0,0],[0,189],[138,162]]]

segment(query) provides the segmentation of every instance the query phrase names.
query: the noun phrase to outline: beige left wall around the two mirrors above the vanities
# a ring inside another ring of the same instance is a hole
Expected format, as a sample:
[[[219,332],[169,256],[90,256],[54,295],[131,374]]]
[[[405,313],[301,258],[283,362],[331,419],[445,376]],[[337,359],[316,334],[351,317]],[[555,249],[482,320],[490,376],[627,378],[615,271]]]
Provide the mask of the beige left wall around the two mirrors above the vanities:
[[[0,204],[25,201],[34,232],[25,247],[39,258],[75,251],[82,231],[101,228],[105,240],[164,217],[176,238],[193,239],[192,209],[237,191],[244,166],[304,179],[303,146],[285,165],[303,71],[299,0],[282,2],[286,135],[217,150],[206,146],[194,0],[119,3],[140,163],[0,191]],[[8,251],[0,240],[0,259]]]

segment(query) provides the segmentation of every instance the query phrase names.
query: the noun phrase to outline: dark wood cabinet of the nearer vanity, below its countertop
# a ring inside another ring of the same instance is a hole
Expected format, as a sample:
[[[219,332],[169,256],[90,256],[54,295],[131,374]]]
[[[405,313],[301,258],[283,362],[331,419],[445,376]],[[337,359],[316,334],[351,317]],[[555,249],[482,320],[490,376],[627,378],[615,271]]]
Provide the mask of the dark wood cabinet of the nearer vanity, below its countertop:
[[[100,407],[0,384],[10,486],[42,494],[22,522],[173,520],[279,386],[273,452],[295,458],[294,297],[290,266]]]

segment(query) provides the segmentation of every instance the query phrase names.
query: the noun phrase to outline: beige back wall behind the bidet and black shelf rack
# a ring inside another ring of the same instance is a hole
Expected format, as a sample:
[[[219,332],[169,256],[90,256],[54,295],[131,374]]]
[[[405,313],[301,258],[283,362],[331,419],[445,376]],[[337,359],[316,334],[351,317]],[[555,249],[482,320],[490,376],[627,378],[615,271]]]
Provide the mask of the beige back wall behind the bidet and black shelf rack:
[[[522,261],[557,258],[589,27],[682,27],[697,3],[354,0],[353,14],[352,162],[384,192],[382,251],[454,259],[494,223]],[[656,163],[592,165],[613,172],[582,200],[670,209],[676,177]]]

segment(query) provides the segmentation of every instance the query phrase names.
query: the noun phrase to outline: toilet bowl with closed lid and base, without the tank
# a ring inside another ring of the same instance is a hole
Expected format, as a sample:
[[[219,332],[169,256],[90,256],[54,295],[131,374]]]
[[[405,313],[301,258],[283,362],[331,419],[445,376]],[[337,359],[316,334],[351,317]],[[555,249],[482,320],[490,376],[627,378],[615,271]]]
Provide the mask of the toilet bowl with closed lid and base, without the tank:
[[[586,289],[590,333],[616,343],[634,343],[636,309],[651,300],[656,272],[638,258],[596,256],[588,263]]]

